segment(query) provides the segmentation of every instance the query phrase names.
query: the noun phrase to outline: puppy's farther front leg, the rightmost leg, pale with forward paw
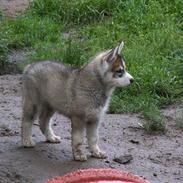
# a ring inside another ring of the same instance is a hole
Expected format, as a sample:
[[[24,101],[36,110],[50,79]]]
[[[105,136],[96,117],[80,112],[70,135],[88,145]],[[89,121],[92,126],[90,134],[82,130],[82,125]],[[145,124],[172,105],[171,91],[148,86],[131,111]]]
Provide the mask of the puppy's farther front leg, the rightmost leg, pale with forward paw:
[[[90,120],[87,122],[87,139],[92,156],[104,159],[107,156],[98,146],[98,123],[98,120]]]

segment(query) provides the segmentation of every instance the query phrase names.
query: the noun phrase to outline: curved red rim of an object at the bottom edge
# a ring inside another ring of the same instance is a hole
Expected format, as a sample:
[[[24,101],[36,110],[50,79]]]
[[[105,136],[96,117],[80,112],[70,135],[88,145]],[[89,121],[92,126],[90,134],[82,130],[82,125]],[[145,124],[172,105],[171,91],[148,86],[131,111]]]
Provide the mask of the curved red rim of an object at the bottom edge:
[[[149,181],[115,169],[79,170],[48,180],[45,183],[150,183]]]

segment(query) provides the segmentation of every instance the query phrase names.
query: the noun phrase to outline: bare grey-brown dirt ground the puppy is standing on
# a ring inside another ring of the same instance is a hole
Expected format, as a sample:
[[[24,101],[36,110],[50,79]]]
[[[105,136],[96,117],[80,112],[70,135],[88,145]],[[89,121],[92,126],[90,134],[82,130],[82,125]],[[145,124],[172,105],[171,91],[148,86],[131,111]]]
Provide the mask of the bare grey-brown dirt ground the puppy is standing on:
[[[99,128],[100,145],[108,158],[94,159],[88,153],[87,162],[75,162],[70,122],[58,114],[54,115],[53,127],[61,136],[60,144],[45,143],[35,124],[36,147],[21,147],[21,75],[0,76],[0,183],[43,183],[48,178],[91,167],[129,171],[151,183],[182,183],[183,131],[175,126],[181,110],[181,105],[163,110],[168,130],[159,135],[147,135],[139,127],[143,119],[138,114],[108,114]],[[129,163],[114,161],[127,154],[133,157]]]

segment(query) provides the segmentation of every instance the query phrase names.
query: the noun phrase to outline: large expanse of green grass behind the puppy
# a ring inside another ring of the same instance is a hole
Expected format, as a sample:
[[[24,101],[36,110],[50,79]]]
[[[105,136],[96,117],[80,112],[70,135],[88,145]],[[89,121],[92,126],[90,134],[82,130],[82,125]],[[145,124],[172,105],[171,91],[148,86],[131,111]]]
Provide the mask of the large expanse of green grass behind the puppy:
[[[123,39],[136,82],[115,91],[110,112],[141,112],[182,100],[182,0],[35,0],[15,20],[1,17],[0,63],[9,50],[28,47],[35,52],[27,62],[81,66]]]

